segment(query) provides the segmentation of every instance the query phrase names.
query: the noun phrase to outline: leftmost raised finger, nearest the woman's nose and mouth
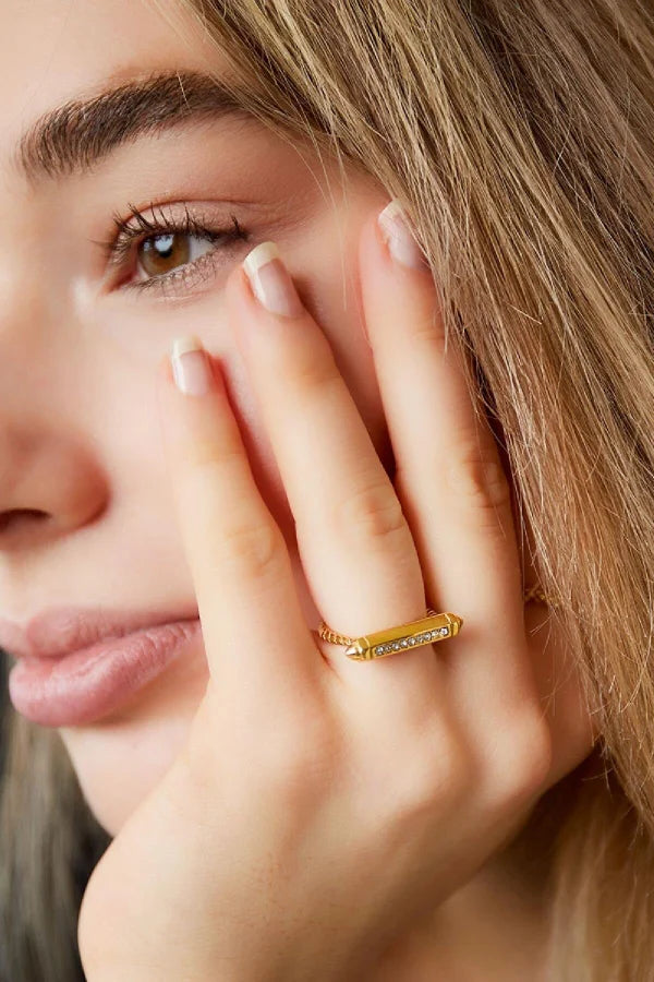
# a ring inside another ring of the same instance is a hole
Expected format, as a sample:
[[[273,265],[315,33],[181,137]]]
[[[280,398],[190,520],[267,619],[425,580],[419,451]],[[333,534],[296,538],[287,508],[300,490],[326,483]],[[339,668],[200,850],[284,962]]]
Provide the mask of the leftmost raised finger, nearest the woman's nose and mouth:
[[[232,692],[272,697],[289,676],[315,678],[319,659],[220,368],[198,338],[175,345],[174,374],[168,357],[159,364],[157,398],[209,672]]]

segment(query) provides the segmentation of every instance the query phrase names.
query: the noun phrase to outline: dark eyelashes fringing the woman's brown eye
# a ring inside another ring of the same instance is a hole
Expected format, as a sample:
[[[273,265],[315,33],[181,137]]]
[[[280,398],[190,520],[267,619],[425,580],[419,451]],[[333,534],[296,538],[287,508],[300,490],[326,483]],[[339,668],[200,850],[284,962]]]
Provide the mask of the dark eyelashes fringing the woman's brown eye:
[[[202,219],[191,215],[186,206],[184,206],[184,216],[182,218],[167,218],[164,212],[159,209],[160,218],[158,220],[146,218],[133,204],[129,204],[128,207],[130,208],[128,218],[121,218],[116,212],[112,215],[113,224],[118,230],[117,235],[110,239],[96,242],[96,244],[102,248],[105,261],[108,262],[111,268],[120,267],[125,262],[134,249],[135,242],[136,248],[138,248],[138,246],[147,239],[157,238],[158,236],[196,236],[201,239],[207,239],[213,243],[221,242],[223,248],[232,246],[238,240],[246,241],[249,238],[247,231],[241,228],[233,215],[230,215],[233,226],[226,229],[209,227],[208,224],[204,223]],[[150,209],[153,212],[154,207],[155,206],[150,204]],[[135,223],[135,225],[133,223]],[[144,232],[147,232],[147,235],[144,235]],[[217,251],[217,249],[214,249],[210,252],[203,253],[198,259],[190,263],[184,263],[179,270],[173,270],[170,273],[153,276],[141,283],[126,284],[122,289],[140,291],[158,289],[164,292],[165,288],[171,282],[181,279],[186,283],[186,285],[189,285],[187,280],[193,278],[197,282],[198,267],[207,261],[213,264],[213,258]]]

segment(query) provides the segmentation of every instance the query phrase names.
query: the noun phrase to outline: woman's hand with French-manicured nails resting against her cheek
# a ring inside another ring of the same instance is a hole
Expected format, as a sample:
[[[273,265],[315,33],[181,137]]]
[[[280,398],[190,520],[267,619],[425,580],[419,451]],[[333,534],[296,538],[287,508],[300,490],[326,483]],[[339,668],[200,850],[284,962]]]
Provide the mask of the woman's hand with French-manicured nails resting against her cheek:
[[[89,982],[363,979],[557,779],[498,451],[461,356],[444,347],[429,272],[396,263],[375,219],[361,288],[395,487],[306,310],[267,312],[237,266],[230,323],[327,623],[356,636],[432,606],[463,626],[371,662],[322,642],[218,366],[206,362],[214,387],[193,396],[164,361],[210,679],[181,753],[88,882]]]

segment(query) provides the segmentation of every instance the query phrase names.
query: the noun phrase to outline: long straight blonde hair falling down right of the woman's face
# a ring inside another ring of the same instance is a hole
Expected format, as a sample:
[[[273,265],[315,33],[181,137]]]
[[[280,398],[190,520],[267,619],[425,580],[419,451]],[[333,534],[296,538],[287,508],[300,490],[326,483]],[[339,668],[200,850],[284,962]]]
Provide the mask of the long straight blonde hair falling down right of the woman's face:
[[[550,978],[649,979],[654,15],[640,0],[182,4],[253,113],[413,217],[602,734],[531,819],[549,843]],[[21,781],[9,761],[5,814]]]

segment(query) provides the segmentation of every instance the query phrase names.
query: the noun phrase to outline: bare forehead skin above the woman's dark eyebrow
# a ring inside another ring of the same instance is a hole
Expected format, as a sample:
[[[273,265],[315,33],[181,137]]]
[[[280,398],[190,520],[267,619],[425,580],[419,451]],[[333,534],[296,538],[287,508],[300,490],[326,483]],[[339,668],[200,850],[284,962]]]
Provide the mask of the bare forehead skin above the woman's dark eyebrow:
[[[153,71],[227,70],[178,0],[2,0],[0,172],[39,116]]]

